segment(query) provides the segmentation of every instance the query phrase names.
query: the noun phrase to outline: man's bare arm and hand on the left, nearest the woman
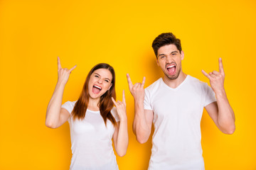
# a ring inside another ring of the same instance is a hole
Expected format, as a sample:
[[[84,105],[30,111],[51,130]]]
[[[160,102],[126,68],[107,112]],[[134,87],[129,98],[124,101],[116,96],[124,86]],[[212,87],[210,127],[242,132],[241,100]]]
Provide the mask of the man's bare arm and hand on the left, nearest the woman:
[[[144,143],[149,140],[151,134],[151,126],[153,123],[154,113],[153,111],[144,110],[144,84],[146,78],[143,78],[142,84],[132,84],[132,80],[127,74],[127,81],[129,85],[129,91],[134,97],[134,122],[132,130],[136,135],[139,143]]]

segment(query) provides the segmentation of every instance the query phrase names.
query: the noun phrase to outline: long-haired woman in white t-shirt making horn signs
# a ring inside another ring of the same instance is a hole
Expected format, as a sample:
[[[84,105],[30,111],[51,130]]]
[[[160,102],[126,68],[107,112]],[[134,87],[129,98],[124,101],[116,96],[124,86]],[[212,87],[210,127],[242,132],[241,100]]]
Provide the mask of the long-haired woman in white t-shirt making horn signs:
[[[65,84],[75,67],[63,69],[58,57],[58,82],[48,104],[46,126],[58,128],[68,120],[73,153],[70,169],[116,170],[112,139],[119,157],[126,154],[128,146],[124,91],[123,101],[114,101],[114,69],[97,64],[87,75],[78,101],[61,106]]]

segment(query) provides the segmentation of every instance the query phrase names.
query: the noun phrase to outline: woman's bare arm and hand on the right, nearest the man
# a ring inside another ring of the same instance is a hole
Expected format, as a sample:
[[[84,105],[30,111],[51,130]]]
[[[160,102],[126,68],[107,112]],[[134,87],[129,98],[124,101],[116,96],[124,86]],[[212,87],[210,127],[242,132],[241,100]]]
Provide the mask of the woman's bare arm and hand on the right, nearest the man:
[[[114,105],[117,107],[117,114],[120,119],[120,121],[117,122],[117,128],[115,128],[114,130],[114,148],[116,149],[119,157],[123,157],[126,154],[128,147],[127,111],[124,91],[122,101],[114,101],[114,98],[112,98],[112,101],[114,102]]]

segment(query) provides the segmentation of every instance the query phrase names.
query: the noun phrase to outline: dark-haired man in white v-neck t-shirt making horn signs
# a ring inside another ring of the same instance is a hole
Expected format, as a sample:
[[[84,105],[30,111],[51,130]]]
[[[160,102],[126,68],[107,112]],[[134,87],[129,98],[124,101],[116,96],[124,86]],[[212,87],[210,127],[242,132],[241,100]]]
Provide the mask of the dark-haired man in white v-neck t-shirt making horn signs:
[[[215,125],[225,134],[235,131],[235,115],[224,89],[224,70],[219,59],[219,72],[202,73],[208,84],[185,74],[181,60],[181,41],[172,33],[162,33],[153,42],[156,63],[164,72],[144,90],[142,84],[132,84],[127,74],[129,90],[134,97],[133,130],[140,143],[149,139],[154,123],[149,170],[204,169],[201,147],[201,117],[203,108]]]

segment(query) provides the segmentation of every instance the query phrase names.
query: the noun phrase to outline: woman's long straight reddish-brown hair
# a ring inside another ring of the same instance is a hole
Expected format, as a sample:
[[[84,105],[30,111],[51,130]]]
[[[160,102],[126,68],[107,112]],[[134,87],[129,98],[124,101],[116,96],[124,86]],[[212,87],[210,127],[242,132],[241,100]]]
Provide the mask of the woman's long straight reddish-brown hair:
[[[110,66],[110,64],[106,63],[100,63],[95,65],[90,72],[88,73],[86,79],[85,79],[85,84],[82,87],[82,92],[80,94],[80,97],[78,98],[78,101],[75,103],[75,107],[72,111],[72,115],[74,120],[82,120],[85,118],[85,113],[87,110],[87,106],[89,103],[89,91],[88,91],[88,84],[90,77],[93,72],[97,69],[108,69],[111,74],[112,74],[112,86],[108,91],[105,92],[102,96],[100,96],[100,115],[102,116],[105,125],[107,125],[107,119],[111,121],[111,123],[115,126],[117,125],[116,120],[114,119],[113,115],[111,114],[111,109],[114,106],[114,103],[111,98],[116,99],[116,93],[115,93],[115,74],[114,74],[114,69],[113,67]]]

